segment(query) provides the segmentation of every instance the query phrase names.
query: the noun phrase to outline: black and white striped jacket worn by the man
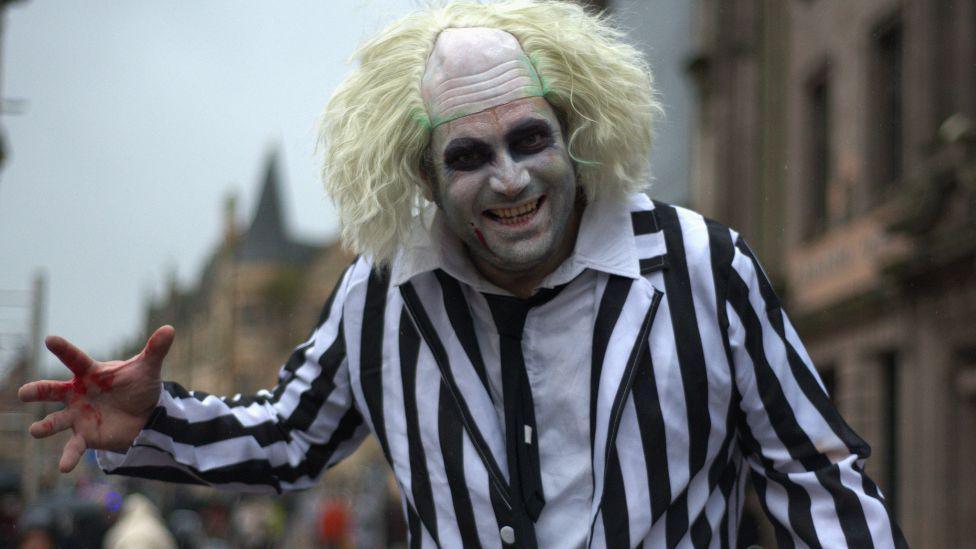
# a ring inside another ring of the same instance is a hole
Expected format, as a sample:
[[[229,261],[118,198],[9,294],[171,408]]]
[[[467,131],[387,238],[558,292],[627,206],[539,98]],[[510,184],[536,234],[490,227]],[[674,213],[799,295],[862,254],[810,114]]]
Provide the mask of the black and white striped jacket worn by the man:
[[[629,209],[620,238],[635,239],[640,275],[596,278],[589,545],[734,547],[751,471],[783,547],[903,546],[863,473],[868,446],[745,242],[643,196]],[[284,491],[314,485],[371,431],[412,546],[545,546],[511,493],[472,323],[484,304],[466,295],[443,271],[396,285],[359,259],[273,391],[226,399],[166,383],[128,453],[99,461]]]

